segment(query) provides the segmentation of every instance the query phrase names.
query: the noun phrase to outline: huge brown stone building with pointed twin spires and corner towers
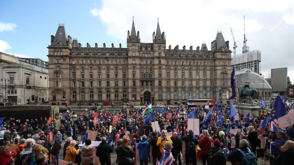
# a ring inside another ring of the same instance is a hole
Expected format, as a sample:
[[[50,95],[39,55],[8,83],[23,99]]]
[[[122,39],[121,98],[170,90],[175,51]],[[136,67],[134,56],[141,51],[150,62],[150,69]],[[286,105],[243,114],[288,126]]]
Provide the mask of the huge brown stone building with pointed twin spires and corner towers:
[[[177,104],[186,99],[228,101],[231,95],[231,50],[221,32],[196,50],[166,47],[159,23],[151,43],[140,41],[134,21],[127,47],[82,47],[64,25],[48,46],[50,103],[86,104],[110,101],[120,105]]]

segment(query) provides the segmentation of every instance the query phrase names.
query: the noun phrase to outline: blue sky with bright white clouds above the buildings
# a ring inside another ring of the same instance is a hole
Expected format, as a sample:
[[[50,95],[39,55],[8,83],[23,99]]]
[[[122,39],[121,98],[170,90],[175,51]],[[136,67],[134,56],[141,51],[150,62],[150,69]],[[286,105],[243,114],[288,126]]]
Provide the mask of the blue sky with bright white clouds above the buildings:
[[[232,27],[236,52],[242,52],[243,16],[247,46],[261,51],[261,72],[268,77],[271,68],[288,68],[294,81],[292,46],[294,44],[294,1],[233,0],[84,0],[84,1],[1,1],[0,51],[17,56],[48,60],[50,35],[64,23],[67,35],[78,38],[82,46],[97,42],[107,47],[119,43],[126,47],[132,17],[140,31],[141,42],[152,42],[157,18],[165,32],[167,47],[196,49],[206,42],[208,49],[217,31],[230,41]],[[233,53],[232,53],[233,55]]]

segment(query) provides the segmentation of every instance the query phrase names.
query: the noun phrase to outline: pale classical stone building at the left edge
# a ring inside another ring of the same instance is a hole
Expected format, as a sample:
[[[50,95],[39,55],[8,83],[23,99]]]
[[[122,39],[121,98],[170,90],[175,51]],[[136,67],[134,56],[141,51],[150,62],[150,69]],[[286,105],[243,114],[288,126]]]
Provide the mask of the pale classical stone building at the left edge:
[[[0,52],[0,80],[0,102],[25,105],[48,100],[48,69],[44,67]]]

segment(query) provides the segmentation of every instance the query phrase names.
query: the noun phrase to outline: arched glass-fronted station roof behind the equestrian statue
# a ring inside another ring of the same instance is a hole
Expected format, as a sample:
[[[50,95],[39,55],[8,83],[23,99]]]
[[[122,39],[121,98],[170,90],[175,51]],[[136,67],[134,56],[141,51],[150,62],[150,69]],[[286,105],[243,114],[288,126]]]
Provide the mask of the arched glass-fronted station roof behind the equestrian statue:
[[[249,69],[236,71],[236,87],[243,87],[245,82],[250,82],[250,89],[257,89],[258,96],[263,98],[271,97],[271,85],[265,80],[264,77]]]

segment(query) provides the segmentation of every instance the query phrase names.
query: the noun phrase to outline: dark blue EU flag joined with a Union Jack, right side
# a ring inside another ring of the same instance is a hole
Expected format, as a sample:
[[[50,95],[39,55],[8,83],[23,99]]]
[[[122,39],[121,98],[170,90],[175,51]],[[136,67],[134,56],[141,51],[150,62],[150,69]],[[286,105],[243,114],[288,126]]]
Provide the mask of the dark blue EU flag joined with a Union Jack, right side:
[[[277,97],[274,103],[274,109],[271,111],[271,114],[268,116],[268,126],[271,131],[275,131],[278,127],[278,118],[287,115],[286,106],[281,99],[280,95]]]

